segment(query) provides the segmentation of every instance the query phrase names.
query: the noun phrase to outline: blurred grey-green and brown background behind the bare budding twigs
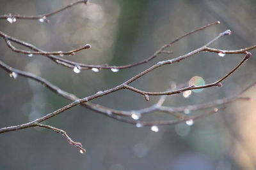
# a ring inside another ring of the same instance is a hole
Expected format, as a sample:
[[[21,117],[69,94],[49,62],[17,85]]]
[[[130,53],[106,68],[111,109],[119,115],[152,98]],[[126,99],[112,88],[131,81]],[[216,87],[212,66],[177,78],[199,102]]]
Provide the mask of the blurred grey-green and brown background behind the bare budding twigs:
[[[38,15],[74,1],[2,0],[0,11],[1,15]],[[219,39],[211,47],[236,50],[255,45],[255,6],[253,0],[92,0],[89,6],[79,4],[49,17],[48,24],[19,19],[10,24],[1,20],[0,31],[45,51],[68,51],[90,43],[91,49],[65,59],[120,66],[146,59],[165,43],[197,27],[217,20],[221,24],[175,43],[170,48],[171,55],[159,55],[147,64],[117,73],[102,70],[76,74],[44,56],[28,57],[12,52],[4,39],[0,41],[1,60],[42,76],[76,96],[86,97],[119,85],[158,61],[195,50],[227,29],[232,35]],[[256,80],[255,50],[251,52],[252,59],[223,81],[223,87],[193,92],[189,97],[170,96],[164,106],[185,106],[236,95]],[[242,58],[241,54],[220,57],[216,53],[198,53],[172,66],[160,67],[134,81],[132,86],[164,91],[170,82],[188,83],[193,76],[211,83],[227,74]],[[70,103],[34,81],[21,76],[10,78],[3,70],[0,70],[0,81],[0,127],[35,120]],[[83,144],[86,153],[79,153],[60,134],[47,129],[24,129],[0,134],[0,169],[256,169],[255,88],[243,96],[251,100],[228,104],[225,110],[196,120],[191,126],[161,126],[158,132],[77,106],[45,124],[66,131],[74,141]],[[93,103],[117,110],[136,110],[158,99],[150,97],[146,102],[140,95],[122,90]],[[190,114],[204,112],[209,110]],[[171,118],[155,112],[142,120]]]

